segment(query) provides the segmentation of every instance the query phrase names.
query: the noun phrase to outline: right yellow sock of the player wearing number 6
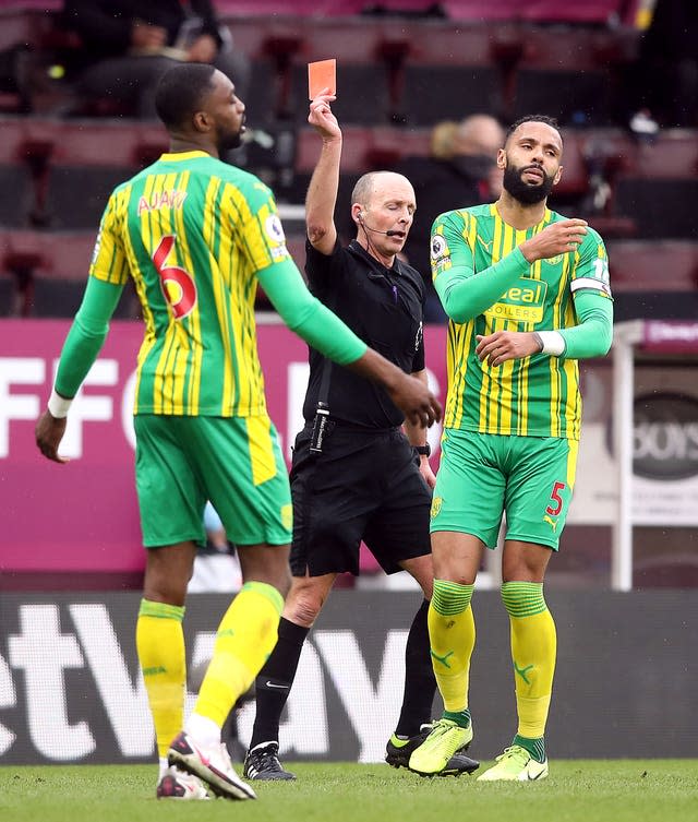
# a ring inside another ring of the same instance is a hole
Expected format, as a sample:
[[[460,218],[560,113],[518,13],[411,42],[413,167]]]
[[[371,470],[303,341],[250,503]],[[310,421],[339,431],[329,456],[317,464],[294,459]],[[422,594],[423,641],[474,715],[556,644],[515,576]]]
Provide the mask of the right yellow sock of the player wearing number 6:
[[[194,713],[221,727],[276,644],[284,598],[272,585],[248,582],[226,611]]]

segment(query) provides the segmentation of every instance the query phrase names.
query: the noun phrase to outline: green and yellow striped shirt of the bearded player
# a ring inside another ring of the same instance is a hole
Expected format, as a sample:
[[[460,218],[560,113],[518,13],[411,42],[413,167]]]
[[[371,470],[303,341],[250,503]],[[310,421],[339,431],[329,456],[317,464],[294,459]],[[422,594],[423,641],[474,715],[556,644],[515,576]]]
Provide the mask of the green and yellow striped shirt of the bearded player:
[[[495,434],[579,439],[581,397],[577,360],[535,354],[492,367],[476,355],[478,334],[559,330],[578,324],[573,294],[594,289],[606,298],[609,264],[603,240],[588,228],[576,252],[529,265],[520,252],[505,259],[552,222],[520,231],[507,225],[495,204],[447,212],[432,228],[434,281],[483,273],[496,263],[513,266],[512,285],[472,320],[448,324],[446,428]],[[517,267],[518,266],[518,276]],[[441,281],[438,287],[447,285]],[[441,293],[440,290],[440,293]]]

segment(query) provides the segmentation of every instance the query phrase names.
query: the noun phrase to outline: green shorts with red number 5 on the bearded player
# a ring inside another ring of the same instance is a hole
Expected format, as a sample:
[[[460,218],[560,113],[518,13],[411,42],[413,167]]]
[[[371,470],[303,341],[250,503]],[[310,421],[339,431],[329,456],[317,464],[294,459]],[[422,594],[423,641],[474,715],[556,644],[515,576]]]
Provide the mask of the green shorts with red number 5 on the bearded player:
[[[445,430],[430,531],[472,534],[494,548],[506,512],[506,539],[557,550],[578,444],[558,437]]]

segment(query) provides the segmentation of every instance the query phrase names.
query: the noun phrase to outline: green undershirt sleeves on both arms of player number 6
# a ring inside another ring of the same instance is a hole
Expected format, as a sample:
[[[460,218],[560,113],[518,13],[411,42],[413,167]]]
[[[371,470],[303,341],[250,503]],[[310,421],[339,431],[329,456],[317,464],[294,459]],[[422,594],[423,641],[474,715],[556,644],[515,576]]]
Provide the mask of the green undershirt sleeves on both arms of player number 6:
[[[365,354],[366,344],[312,296],[294,263],[270,265],[257,272],[257,278],[288,327],[321,354],[341,366]],[[72,398],[77,393],[104,345],[122,290],[121,285],[87,279],[56,376],[61,396]]]

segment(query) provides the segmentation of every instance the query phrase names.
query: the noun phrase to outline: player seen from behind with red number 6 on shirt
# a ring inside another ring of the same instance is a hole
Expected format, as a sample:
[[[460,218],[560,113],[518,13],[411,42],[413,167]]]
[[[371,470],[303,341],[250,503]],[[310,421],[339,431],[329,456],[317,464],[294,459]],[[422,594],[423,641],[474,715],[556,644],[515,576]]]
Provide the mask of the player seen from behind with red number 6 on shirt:
[[[256,349],[257,282],[286,324],[382,385],[419,427],[440,416],[425,385],[368,348],[315,299],[291,260],[269,189],[219,155],[239,145],[244,105],[214,67],[169,70],[156,93],[170,151],[111,194],[85,296],[36,427],[58,463],[71,400],[131,277],[145,337],[135,381],[136,488],[147,548],[139,662],[160,761],[158,798],[253,799],[220,728],[272,653],[290,584],[291,496]],[[210,500],[238,548],[243,586],[219,624],[184,730],[182,619]],[[147,732],[147,729],[144,729]],[[203,781],[203,782],[202,782]]]

